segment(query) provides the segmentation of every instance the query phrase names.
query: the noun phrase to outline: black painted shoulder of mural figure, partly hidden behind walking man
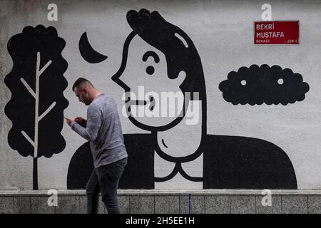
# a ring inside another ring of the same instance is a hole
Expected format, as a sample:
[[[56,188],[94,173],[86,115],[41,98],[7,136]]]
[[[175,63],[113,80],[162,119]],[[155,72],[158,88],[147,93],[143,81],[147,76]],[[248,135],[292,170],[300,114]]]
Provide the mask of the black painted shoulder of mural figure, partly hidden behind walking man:
[[[119,189],[154,188],[154,142],[151,134],[123,135],[128,162],[119,182]],[[67,189],[86,189],[93,171],[89,142],[76,150],[68,167]]]

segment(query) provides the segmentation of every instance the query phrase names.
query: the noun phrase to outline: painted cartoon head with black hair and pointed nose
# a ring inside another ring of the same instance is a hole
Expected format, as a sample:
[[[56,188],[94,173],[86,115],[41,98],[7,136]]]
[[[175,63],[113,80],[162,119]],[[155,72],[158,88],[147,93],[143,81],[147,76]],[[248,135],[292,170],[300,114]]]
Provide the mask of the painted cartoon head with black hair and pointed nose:
[[[132,106],[138,104],[131,96],[137,95],[139,88],[152,92],[153,105],[149,107],[153,107],[151,115],[156,118],[138,120],[133,113],[128,113],[138,128],[168,130],[183,120],[190,100],[205,99],[200,58],[190,38],[180,28],[165,21],[157,11],[151,14],[144,9],[139,14],[128,11],[127,19],[133,32],[125,41],[121,68],[112,77],[113,81],[129,92],[126,110],[133,110]],[[150,56],[151,59],[148,58]],[[140,66],[139,72],[137,66]],[[133,68],[136,68],[136,73],[133,73]],[[177,103],[167,107],[164,101],[168,97],[177,98]],[[143,105],[151,103],[149,99],[144,101]],[[166,115],[169,110],[174,110],[175,114]]]

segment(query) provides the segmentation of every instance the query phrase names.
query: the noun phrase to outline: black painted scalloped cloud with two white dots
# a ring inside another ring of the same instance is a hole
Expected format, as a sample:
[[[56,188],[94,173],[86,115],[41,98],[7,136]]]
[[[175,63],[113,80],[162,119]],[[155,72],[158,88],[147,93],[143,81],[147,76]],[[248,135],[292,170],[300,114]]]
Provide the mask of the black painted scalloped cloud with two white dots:
[[[228,80],[219,86],[223,98],[233,105],[287,105],[305,99],[309,85],[300,73],[280,66],[252,65],[228,73]]]

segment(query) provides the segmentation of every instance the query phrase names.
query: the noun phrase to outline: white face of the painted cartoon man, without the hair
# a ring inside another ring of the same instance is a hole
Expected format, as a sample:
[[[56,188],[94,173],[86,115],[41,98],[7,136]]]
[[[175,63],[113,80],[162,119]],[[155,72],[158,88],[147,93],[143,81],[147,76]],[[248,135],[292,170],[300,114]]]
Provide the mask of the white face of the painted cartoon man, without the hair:
[[[169,78],[164,54],[139,36],[133,36],[123,63],[124,71],[118,71],[113,80],[126,91],[126,111],[132,123],[145,130],[170,128],[170,123],[183,115],[184,95],[179,86],[185,71],[180,71],[177,78]],[[175,103],[163,105],[172,97]],[[175,112],[169,113],[170,110]]]

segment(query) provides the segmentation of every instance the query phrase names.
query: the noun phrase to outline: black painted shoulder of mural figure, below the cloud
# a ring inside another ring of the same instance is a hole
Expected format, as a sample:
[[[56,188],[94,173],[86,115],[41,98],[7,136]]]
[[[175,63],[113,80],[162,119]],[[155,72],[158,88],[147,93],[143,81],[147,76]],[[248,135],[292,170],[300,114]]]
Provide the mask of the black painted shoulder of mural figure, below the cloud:
[[[289,157],[271,142],[207,135],[203,151],[205,189],[297,189]]]

